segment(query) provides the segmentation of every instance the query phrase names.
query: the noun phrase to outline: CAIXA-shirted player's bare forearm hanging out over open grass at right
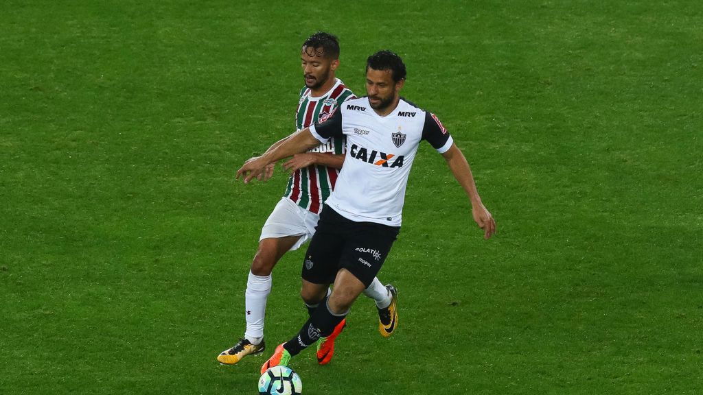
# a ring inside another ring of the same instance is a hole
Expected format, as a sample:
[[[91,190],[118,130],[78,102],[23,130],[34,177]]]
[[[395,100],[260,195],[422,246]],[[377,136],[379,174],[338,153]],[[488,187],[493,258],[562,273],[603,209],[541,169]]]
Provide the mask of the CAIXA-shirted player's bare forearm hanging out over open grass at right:
[[[471,201],[471,213],[474,217],[474,221],[483,229],[484,238],[490,238],[491,235],[496,233],[496,220],[486,207],[484,207],[483,202],[481,202],[481,197],[479,196],[476,183],[474,182],[474,176],[471,174],[469,162],[466,161],[466,157],[456,144],[452,144],[451,148],[443,153],[442,156],[444,156],[446,164],[449,165],[449,169],[451,169],[452,174],[454,174],[454,178],[456,178],[456,181],[459,181]]]

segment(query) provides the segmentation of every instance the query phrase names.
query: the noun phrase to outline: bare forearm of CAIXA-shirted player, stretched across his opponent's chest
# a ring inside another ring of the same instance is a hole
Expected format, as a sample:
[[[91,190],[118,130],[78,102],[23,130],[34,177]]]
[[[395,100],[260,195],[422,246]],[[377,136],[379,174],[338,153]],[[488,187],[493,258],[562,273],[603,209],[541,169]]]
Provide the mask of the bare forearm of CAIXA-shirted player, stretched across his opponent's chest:
[[[310,133],[310,129],[305,128],[296,131],[287,138],[283,138],[271,145],[264,155],[252,157],[244,162],[243,166],[237,170],[237,179],[239,179],[240,176],[244,176],[244,183],[249,183],[254,177],[259,180],[265,178],[267,164],[271,164],[284,157],[289,157],[297,153],[304,153],[319,144],[320,141]]]

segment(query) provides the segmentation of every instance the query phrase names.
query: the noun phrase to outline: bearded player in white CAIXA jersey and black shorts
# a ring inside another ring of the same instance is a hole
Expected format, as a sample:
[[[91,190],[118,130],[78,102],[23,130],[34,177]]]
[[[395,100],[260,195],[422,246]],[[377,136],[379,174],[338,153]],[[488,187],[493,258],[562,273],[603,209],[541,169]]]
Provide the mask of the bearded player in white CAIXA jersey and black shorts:
[[[271,162],[328,138],[347,137],[344,167],[320,215],[302,269],[301,294],[308,304],[321,302],[330,283],[334,283],[333,292],[295,337],[276,347],[262,371],[288,365],[292,356],[318,337],[329,335],[378,273],[399,233],[408,173],[420,141],[428,141],[446,160],[469,197],[472,216],[484,230],[484,238],[496,231],[466,158],[449,132],[434,114],[399,96],[405,77],[406,67],[395,53],[373,54],[366,63],[368,96],[343,103],[324,122],[297,131],[237,171],[248,183]]]

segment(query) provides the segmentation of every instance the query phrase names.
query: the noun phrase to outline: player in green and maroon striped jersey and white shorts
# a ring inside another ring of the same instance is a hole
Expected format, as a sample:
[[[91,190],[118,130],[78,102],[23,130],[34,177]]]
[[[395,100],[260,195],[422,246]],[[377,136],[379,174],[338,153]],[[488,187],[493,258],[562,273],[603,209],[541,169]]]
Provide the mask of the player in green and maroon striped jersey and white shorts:
[[[355,98],[352,91],[335,78],[335,70],[340,64],[339,54],[337,37],[332,34],[317,32],[305,40],[300,55],[305,86],[300,91],[295,113],[296,129],[307,128],[315,121],[325,119],[344,101]],[[285,252],[297,250],[315,233],[323,203],[335,188],[344,162],[344,140],[344,136],[330,138],[306,153],[294,155],[283,165],[292,174],[285,195],[262,228],[259,249],[252,261],[245,292],[245,334],[237,344],[217,356],[220,363],[232,365],[247,355],[264,351],[264,314],[271,292],[271,271]],[[283,141],[285,139],[279,143]],[[270,166],[263,178],[269,178],[271,171]],[[374,278],[363,293],[375,300],[379,331],[382,336],[389,337],[397,327],[395,288],[384,286]],[[317,305],[315,302],[307,307],[313,311]],[[337,323],[335,330],[318,342],[317,356],[321,365],[332,359],[335,338],[344,325],[344,320]]]

